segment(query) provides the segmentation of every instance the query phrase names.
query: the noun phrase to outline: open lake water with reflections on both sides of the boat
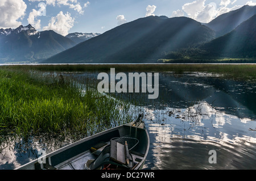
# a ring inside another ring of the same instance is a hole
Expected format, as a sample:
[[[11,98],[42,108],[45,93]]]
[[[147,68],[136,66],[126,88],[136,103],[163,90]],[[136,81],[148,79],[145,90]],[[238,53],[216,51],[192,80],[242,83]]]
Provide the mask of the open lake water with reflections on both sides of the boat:
[[[123,99],[139,99],[133,108],[145,115],[150,150],[143,169],[256,169],[255,82],[212,73],[162,72],[158,99],[143,94]],[[71,142],[49,141],[47,136],[28,143],[10,138],[11,144],[2,145],[0,169],[36,159],[43,144],[51,152]],[[211,150],[217,163],[209,163]]]

